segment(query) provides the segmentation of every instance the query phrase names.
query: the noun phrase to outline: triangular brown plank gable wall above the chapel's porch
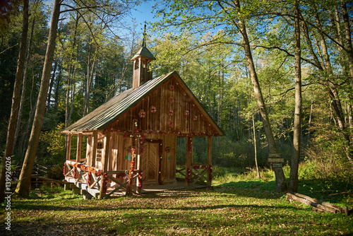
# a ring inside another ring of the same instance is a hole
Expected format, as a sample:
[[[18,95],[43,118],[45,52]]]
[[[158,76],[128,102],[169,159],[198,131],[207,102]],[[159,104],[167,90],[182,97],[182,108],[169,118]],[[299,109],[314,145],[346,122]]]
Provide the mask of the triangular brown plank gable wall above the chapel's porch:
[[[143,134],[217,136],[217,132],[183,87],[172,78],[110,124],[106,131],[131,133],[133,119]]]

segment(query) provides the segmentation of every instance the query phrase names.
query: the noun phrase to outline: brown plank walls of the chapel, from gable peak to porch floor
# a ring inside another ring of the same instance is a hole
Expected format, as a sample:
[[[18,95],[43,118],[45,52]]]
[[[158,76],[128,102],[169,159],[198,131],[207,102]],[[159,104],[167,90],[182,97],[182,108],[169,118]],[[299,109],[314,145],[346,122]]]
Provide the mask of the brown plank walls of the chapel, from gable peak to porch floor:
[[[201,112],[198,102],[189,96],[183,85],[174,78],[169,78],[115,122],[109,124],[104,131],[97,132],[97,142],[101,143],[98,147],[104,146],[102,143],[104,134],[109,132],[111,135],[108,170],[129,170],[133,129],[136,130],[135,135],[140,140],[161,140],[161,153],[157,151],[154,144],[149,147],[148,143],[141,145],[145,152],[140,155],[140,170],[144,172],[143,185],[170,184],[176,181],[177,137],[219,135],[206,117],[208,114]],[[94,138],[88,138],[87,145],[88,150],[91,150]],[[88,160],[91,159],[92,152],[87,152]],[[144,157],[146,152],[150,155],[149,158],[153,159],[146,159]],[[149,160],[150,166],[148,166]],[[101,168],[98,161],[95,162],[95,167]],[[154,179],[154,175],[158,175],[158,178]]]

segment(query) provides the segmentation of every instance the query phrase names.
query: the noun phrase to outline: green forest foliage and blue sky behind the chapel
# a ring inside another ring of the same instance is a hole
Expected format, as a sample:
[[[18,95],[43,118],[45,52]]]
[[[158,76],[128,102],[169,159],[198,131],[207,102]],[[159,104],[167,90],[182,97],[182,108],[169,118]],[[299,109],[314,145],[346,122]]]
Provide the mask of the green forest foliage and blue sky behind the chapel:
[[[177,71],[227,134],[214,138],[213,165],[268,168],[269,146],[246,61],[239,18],[252,57],[278,152],[291,165],[300,143],[304,175],[352,187],[353,49],[350,1],[162,1],[148,24],[154,77]],[[294,139],[294,5],[300,14],[300,141]],[[2,2],[1,2],[2,4]],[[0,151],[5,152],[20,40],[23,1],[5,1],[0,18]],[[61,1],[54,60],[35,162],[61,178],[65,136],[60,134],[114,95],[131,88],[131,58],[142,27],[131,23],[140,1]],[[53,6],[29,1],[28,37],[20,85],[13,165],[22,165],[40,93]],[[140,10],[142,11],[142,10]],[[236,17],[237,16],[237,17]],[[230,23],[229,23],[230,22]],[[234,23],[234,24],[231,24]],[[240,24],[241,25],[241,24]],[[73,140],[73,143],[75,140]],[[179,151],[183,158],[182,141]],[[73,147],[76,146],[73,144]],[[194,163],[205,163],[196,138]],[[83,148],[83,153],[85,149]],[[182,161],[182,160],[181,160]]]

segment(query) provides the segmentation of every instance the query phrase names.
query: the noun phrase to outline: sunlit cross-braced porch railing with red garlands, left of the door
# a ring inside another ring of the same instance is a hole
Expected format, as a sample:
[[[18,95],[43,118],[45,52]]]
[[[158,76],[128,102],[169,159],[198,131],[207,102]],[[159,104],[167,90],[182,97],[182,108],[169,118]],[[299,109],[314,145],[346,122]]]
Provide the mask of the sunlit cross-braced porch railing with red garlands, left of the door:
[[[66,167],[68,168],[68,172],[64,173],[65,177],[73,177],[76,186],[82,179],[83,183],[87,184],[88,189],[94,189],[97,187],[97,190],[102,192],[104,196],[110,196],[118,190],[126,191],[130,175],[132,175],[133,180],[138,179],[137,191],[138,193],[141,191],[143,173],[140,170],[133,170],[131,173],[129,173],[129,170],[114,170],[104,173],[102,170],[95,167],[76,163],[71,160],[66,160]],[[118,185],[109,191],[109,193],[107,193],[108,179]],[[126,179],[126,181],[121,183],[119,182],[119,179]]]

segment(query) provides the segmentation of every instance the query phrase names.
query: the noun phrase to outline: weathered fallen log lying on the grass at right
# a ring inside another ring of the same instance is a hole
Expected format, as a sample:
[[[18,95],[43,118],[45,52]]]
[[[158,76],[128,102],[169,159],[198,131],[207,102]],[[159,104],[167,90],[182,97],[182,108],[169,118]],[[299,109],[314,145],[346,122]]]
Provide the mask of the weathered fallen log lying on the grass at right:
[[[345,213],[345,209],[340,206],[335,206],[331,203],[318,201],[303,194],[297,194],[294,192],[287,193],[287,200],[289,201],[299,201],[309,206],[313,206],[313,211],[327,211],[330,213]]]

